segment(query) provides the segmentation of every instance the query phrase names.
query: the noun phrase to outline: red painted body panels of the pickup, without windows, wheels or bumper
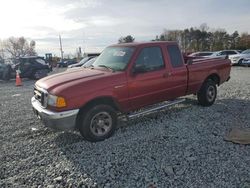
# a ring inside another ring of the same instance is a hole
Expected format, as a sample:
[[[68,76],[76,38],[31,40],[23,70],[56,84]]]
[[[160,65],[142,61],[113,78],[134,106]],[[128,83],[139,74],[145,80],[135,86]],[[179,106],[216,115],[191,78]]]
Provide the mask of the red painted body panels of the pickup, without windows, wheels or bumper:
[[[195,94],[202,83],[213,74],[219,77],[222,84],[230,76],[230,60],[201,59],[191,65],[172,67],[166,50],[167,45],[175,42],[130,43],[114,46],[133,46],[135,51],[125,71],[112,72],[105,68],[79,68],[45,77],[36,86],[46,89],[49,93],[66,99],[67,107],[53,111],[65,111],[82,108],[89,101],[108,97],[117,104],[122,112],[145,107],[180,96]],[[149,46],[160,47],[165,68],[153,72],[134,74],[133,64],[141,49]]]

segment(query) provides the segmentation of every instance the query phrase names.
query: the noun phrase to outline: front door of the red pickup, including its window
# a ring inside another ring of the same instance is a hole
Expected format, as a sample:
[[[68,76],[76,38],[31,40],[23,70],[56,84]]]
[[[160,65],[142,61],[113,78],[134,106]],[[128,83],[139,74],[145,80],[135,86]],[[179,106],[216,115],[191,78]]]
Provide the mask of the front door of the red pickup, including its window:
[[[160,47],[145,47],[139,52],[128,80],[132,109],[137,109],[164,98],[166,67]]]

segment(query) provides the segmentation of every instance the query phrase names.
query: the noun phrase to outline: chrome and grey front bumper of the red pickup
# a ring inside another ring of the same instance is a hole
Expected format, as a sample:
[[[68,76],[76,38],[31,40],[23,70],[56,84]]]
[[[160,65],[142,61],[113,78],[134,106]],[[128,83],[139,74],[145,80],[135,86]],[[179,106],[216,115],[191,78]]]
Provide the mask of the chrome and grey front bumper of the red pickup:
[[[73,130],[76,127],[76,117],[79,109],[63,112],[53,112],[41,107],[40,103],[32,97],[31,104],[36,116],[42,120],[45,126],[57,130]]]

